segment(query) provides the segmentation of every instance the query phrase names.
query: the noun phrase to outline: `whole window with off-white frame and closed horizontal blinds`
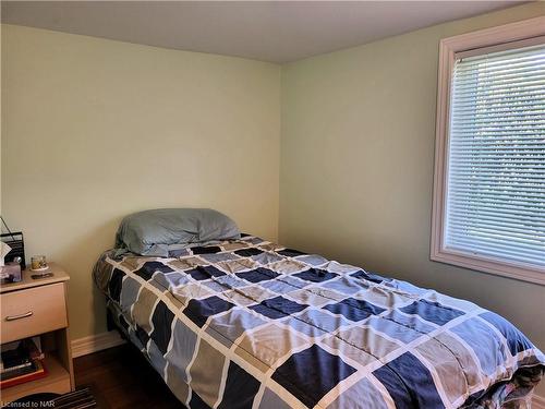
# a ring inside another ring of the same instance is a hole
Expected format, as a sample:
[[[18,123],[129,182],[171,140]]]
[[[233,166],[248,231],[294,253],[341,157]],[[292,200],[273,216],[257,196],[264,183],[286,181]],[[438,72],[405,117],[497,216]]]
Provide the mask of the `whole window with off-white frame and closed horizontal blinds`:
[[[545,284],[545,17],[441,40],[432,260]]]

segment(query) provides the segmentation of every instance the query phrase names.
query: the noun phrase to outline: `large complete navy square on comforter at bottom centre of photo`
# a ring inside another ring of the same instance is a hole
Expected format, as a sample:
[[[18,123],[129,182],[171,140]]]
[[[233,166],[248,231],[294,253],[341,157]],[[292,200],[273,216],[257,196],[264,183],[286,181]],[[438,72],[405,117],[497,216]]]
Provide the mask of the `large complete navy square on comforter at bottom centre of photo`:
[[[339,382],[355,372],[342,359],[317,345],[292,354],[272,374],[282,385],[308,408],[314,406]]]

